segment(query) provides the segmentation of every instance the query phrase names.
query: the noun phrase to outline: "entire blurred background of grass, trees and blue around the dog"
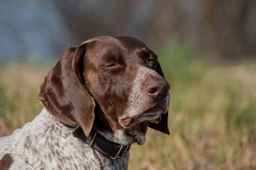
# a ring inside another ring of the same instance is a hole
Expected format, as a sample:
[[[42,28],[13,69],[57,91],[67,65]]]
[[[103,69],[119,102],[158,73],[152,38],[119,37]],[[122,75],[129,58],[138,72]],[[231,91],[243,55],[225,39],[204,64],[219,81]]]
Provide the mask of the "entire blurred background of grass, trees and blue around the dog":
[[[171,135],[148,129],[129,169],[256,168],[256,1],[0,2],[0,137],[33,120],[44,76],[70,46],[141,39],[171,84]]]

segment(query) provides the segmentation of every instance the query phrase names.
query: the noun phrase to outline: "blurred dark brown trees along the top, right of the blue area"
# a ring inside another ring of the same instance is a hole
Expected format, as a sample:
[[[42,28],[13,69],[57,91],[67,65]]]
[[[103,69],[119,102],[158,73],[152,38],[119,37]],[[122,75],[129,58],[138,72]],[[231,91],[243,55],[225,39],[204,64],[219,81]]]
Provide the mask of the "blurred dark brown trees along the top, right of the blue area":
[[[72,39],[128,34],[149,46],[172,35],[225,57],[256,53],[255,0],[53,1]],[[255,12],[254,12],[255,13]],[[254,29],[255,28],[255,29]],[[159,43],[160,42],[160,43]]]

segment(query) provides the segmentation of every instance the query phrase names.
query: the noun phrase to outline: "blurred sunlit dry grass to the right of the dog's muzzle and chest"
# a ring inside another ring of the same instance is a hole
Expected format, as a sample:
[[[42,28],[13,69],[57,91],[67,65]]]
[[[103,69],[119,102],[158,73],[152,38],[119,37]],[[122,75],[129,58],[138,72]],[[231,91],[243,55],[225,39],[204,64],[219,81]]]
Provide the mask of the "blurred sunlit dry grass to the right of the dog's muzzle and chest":
[[[256,63],[194,78],[173,78],[171,135],[149,129],[145,145],[132,147],[130,169],[256,168]]]

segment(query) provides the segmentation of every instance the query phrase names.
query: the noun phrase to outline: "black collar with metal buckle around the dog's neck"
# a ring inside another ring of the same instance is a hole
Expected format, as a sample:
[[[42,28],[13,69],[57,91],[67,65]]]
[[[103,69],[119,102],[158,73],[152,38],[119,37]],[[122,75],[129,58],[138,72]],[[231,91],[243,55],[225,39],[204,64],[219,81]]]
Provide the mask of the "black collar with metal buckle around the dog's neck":
[[[64,124],[60,122],[61,124]],[[79,138],[85,143],[87,143],[90,147],[97,150],[103,155],[109,156],[112,159],[121,158],[125,155],[126,152],[129,151],[131,145],[120,145],[103,138],[99,133],[97,133],[94,129],[90,132],[89,136],[86,137],[84,135],[84,131],[80,126],[73,127],[67,124],[64,124],[69,129],[72,130],[72,134],[75,138]]]

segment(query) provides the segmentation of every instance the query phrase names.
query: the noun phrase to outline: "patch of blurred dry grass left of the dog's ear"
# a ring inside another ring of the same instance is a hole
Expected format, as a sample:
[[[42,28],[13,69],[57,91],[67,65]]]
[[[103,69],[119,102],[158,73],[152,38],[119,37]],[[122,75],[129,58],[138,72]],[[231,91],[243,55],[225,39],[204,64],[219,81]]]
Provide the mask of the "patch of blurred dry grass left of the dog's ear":
[[[49,70],[20,64],[0,69],[0,136],[10,134],[40,113],[42,105],[37,95]]]

